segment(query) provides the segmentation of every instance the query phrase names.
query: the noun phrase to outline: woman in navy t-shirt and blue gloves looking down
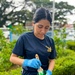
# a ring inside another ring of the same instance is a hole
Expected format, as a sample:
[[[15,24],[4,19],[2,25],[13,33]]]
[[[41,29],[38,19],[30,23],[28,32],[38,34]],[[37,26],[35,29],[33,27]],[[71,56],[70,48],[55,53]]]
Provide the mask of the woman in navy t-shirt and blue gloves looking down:
[[[43,7],[38,8],[33,16],[33,31],[22,34],[17,40],[10,61],[22,65],[22,75],[37,75],[40,67],[46,75],[52,75],[56,50],[53,39],[45,35],[51,22],[49,11]],[[35,58],[36,54],[39,59]]]

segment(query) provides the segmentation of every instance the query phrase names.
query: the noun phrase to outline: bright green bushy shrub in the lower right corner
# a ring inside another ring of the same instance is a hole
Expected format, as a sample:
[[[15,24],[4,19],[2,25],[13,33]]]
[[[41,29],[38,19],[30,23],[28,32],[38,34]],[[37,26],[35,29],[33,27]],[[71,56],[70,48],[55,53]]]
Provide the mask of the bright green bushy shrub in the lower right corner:
[[[60,57],[56,60],[53,75],[75,75],[75,55]]]

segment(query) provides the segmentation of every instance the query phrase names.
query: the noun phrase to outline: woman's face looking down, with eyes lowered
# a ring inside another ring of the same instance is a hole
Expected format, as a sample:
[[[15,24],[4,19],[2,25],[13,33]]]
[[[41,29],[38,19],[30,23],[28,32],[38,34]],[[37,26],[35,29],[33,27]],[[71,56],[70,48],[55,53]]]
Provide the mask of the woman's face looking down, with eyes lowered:
[[[34,27],[34,35],[37,38],[44,39],[44,35],[50,28],[50,22],[46,19],[42,19],[37,23],[32,24]]]

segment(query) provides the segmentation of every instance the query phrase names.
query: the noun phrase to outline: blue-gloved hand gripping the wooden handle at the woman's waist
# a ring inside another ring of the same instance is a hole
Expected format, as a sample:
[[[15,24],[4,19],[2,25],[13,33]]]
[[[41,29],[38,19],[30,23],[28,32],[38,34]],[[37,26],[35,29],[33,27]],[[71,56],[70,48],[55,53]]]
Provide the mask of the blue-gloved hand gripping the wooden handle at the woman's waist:
[[[39,69],[41,67],[41,61],[39,59],[33,58],[33,59],[24,59],[24,62],[22,64],[22,67],[28,66],[35,69]]]

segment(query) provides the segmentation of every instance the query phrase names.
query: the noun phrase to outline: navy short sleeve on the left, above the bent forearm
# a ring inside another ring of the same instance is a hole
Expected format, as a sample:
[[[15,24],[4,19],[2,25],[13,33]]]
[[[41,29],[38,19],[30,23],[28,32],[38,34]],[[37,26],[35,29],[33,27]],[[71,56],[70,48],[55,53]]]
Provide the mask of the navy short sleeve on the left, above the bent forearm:
[[[20,36],[19,39],[17,40],[15,47],[12,51],[14,54],[18,56],[23,56],[24,55],[24,40],[23,36]]]

